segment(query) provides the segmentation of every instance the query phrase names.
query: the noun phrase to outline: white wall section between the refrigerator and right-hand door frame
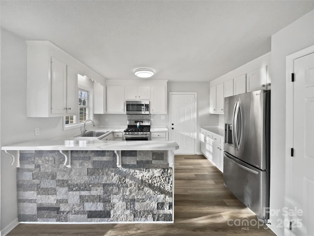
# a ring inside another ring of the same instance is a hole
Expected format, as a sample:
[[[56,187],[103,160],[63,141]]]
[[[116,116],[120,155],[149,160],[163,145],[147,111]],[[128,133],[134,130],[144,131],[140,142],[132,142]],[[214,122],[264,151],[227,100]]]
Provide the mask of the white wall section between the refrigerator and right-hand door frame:
[[[271,37],[271,209],[282,210],[287,200],[285,196],[286,56],[311,45],[314,45],[314,10]],[[284,217],[279,214],[279,216],[271,216],[270,219],[271,229],[278,235],[284,235],[284,228],[277,227]],[[286,232],[288,232],[287,228]]]

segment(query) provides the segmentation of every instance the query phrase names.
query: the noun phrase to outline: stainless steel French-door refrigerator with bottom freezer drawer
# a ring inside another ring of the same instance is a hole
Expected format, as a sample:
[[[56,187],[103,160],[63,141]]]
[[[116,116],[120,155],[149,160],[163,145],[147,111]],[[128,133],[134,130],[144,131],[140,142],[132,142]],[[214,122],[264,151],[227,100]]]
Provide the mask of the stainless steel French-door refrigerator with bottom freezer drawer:
[[[270,91],[225,98],[224,183],[262,222],[269,219]]]

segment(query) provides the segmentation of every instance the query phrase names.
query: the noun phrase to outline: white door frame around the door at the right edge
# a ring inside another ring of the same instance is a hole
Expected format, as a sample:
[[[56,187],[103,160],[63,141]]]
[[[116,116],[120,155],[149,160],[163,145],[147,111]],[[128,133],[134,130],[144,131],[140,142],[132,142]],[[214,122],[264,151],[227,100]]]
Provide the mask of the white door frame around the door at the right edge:
[[[291,157],[291,148],[293,148],[293,127],[294,127],[294,83],[291,82],[292,73],[294,73],[294,60],[314,53],[314,45],[286,57],[286,181],[285,181],[285,205],[292,207],[289,196],[292,189],[292,168],[293,158]],[[291,234],[291,233],[290,233]]]

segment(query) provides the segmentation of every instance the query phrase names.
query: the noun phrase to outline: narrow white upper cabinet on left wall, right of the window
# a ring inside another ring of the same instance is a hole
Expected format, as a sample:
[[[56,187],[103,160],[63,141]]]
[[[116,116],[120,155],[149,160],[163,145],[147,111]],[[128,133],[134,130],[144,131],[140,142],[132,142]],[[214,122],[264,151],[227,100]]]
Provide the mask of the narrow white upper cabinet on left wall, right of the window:
[[[106,112],[106,87],[94,81],[94,114]]]

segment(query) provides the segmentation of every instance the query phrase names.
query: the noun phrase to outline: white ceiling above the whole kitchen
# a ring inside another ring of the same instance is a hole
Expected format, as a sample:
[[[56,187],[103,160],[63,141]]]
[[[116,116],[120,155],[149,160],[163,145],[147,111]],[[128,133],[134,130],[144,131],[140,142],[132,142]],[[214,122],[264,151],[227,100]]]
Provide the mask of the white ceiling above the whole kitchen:
[[[303,0],[1,0],[1,27],[50,40],[106,79],[210,81],[271,50]]]

